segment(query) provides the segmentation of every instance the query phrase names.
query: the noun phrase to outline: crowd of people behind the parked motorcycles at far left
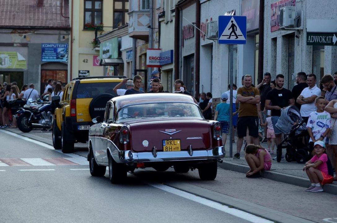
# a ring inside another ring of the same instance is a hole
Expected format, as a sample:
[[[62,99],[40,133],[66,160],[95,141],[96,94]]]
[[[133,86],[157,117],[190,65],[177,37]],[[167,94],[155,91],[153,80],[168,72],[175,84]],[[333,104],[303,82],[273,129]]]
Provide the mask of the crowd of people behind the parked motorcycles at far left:
[[[15,99],[22,99],[27,104],[30,104],[28,99],[37,101],[45,97],[45,101],[51,101],[53,96],[63,95],[65,84],[61,81],[48,80],[48,84],[45,85],[44,93],[40,96],[37,90],[35,90],[34,84],[23,85],[21,91],[16,82],[0,84],[0,128],[17,128],[16,119],[13,118],[12,109],[9,103]],[[46,96],[48,95],[48,97]]]

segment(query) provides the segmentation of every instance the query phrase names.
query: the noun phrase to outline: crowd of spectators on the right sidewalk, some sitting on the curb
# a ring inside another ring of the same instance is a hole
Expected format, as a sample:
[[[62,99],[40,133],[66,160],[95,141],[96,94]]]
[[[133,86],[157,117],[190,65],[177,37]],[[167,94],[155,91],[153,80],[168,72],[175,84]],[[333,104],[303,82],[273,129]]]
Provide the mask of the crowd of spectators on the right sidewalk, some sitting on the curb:
[[[333,177],[333,167],[337,166],[336,81],[337,72],[334,76],[324,75],[318,87],[315,74],[299,72],[296,75],[297,85],[290,91],[283,87],[284,75],[278,74],[272,80],[267,72],[256,87],[253,87],[250,75],[242,77],[243,87],[237,89],[233,85],[233,127],[238,135],[237,153],[233,159],[240,159],[244,145],[245,160],[250,167],[246,177],[259,177],[260,170],[270,170],[272,160],[276,160],[276,156],[272,158],[271,154],[274,154],[275,145],[281,143],[283,134],[277,127],[281,112],[288,106],[296,105],[309,133],[304,140],[307,140],[308,151],[313,155],[303,169],[312,183],[306,191],[323,191],[321,185],[337,180],[336,176]],[[229,106],[223,105],[228,97],[229,91],[221,95],[222,103],[217,105],[214,117],[221,122],[224,138],[228,134],[231,112]],[[267,149],[260,145],[260,141],[265,139]],[[234,142],[234,138],[232,140]],[[281,159],[284,159],[283,155]]]

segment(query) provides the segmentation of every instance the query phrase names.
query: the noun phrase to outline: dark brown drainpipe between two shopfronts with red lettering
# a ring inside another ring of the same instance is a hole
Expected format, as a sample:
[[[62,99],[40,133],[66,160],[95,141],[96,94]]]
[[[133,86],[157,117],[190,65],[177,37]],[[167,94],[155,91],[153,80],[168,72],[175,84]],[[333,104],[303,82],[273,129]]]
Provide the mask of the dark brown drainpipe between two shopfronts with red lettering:
[[[200,85],[200,1],[195,1],[195,54],[194,54],[194,97],[199,93]]]

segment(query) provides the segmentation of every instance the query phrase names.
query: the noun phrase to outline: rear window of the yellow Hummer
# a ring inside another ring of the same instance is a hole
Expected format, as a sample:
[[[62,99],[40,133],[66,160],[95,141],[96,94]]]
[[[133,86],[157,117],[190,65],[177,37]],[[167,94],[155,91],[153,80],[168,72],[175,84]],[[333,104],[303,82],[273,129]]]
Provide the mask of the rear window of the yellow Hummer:
[[[118,96],[113,89],[119,83],[120,82],[80,83],[77,87],[76,98],[94,98],[104,93]],[[120,89],[126,89],[126,85],[122,85]]]

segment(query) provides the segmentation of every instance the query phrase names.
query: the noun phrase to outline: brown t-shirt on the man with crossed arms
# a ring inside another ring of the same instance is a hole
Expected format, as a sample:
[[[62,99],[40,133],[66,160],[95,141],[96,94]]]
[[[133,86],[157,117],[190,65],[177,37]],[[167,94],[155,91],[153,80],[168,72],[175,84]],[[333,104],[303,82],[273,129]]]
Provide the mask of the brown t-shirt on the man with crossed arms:
[[[255,97],[256,95],[260,95],[260,92],[257,88],[251,87],[250,89],[246,89],[245,87],[241,87],[238,89],[237,94],[242,95],[243,97]],[[239,116],[257,116],[257,106],[256,104],[250,104],[246,102],[240,102],[239,105]]]

